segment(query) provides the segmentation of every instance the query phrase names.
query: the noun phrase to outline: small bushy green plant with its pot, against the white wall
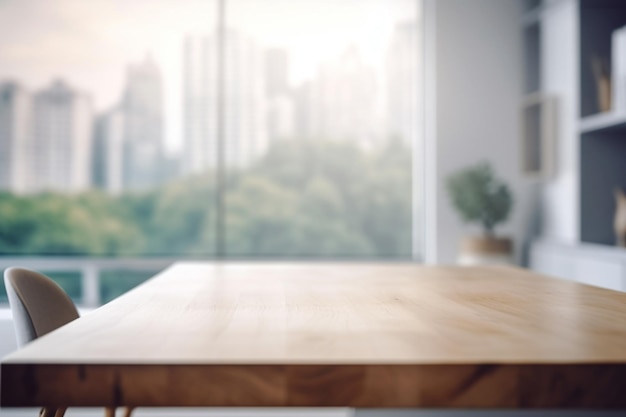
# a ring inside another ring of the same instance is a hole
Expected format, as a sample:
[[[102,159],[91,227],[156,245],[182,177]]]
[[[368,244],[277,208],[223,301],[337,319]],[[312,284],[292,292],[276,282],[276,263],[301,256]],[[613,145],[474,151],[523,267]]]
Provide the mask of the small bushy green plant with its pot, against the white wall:
[[[511,263],[511,239],[496,237],[494,233],[496,225],[508,218],[513,205],[507,185],[494,176],[486,162],[450,175],[446,185],[461,218],[482,226],[481,236],[462,240],[459,263]]]

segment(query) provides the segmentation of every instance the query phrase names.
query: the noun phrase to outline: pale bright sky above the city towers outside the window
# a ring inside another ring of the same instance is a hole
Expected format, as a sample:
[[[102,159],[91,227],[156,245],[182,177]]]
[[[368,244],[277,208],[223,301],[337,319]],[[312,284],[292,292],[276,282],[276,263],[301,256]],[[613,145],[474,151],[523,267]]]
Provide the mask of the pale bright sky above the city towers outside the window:
[[[226,21],[290,53],[290,79],[357,45],[380,66],[397,22],[419,19],[419,0],[227,0]],[[164,78],[166,146],[180,147],[183,39],[216,27],[216,0],[0,0],[0,81],[29,90],[62,78],[97,112],[119,102],[126,68],[151,54]]]

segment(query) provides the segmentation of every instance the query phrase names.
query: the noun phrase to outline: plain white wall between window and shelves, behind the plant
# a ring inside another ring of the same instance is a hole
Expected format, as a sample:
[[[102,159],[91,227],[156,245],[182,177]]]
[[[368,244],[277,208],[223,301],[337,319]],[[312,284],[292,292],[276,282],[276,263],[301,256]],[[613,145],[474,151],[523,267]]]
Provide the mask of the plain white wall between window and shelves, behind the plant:
[[[426,7],[427,18],[435,9],[434,50],[429,51],[428,44],[426,48],[426,65],[434,68],[426,68],[426,88],[428,96],[434,83],[431,93],[436,101],[434,111],[427,109],[426,123],[434,123],[432,130],[427,126],[427,154],[432,145],[429,157],[436,159],[435,176],[427,180],[433,188],[427,198],[435,195],[437,204],[431,207],[436,229],[429,233],[436,245],[427,260],[453,262],[460,237],[478,233],[479,229],[463,225],[453,211],[445,179],[481,160],[490,161],[514,193],[512,217],[496,232],[514,237],[519,252],[531,215],[531,186],[522,178],[519,162],[521,2],[436,0]],[[427,100],[432,102],[432,96]]]

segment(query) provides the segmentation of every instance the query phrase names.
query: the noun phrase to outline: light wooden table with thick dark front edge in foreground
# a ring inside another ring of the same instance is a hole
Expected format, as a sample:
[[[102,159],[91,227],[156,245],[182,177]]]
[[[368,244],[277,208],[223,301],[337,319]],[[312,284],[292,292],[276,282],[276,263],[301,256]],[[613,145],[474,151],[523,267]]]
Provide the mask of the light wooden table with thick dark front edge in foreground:
[[[3,406],[626,407],[626,294],[509,267],[181,263],[9,355]]]

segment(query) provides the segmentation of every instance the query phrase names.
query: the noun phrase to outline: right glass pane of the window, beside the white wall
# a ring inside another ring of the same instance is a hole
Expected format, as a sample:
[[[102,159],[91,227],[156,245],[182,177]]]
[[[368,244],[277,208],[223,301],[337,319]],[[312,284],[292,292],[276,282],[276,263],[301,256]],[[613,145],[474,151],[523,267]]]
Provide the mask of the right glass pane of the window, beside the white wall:
[[[228,256],[411,257],[418,6],[227,2]]]

